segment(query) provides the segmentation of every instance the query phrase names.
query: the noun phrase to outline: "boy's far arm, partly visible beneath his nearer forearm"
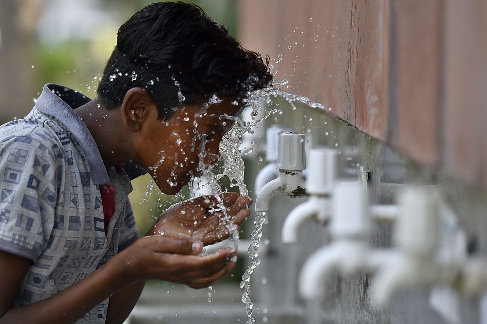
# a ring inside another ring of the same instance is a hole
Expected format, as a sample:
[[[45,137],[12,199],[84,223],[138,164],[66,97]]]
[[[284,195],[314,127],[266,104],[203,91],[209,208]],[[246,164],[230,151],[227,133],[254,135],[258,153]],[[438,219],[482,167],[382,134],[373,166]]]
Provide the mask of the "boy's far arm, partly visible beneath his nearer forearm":
[[[127,319],[139,300],[145,284],[145,281],[135,282],[126,288],[120,289],[110,297],[106,320],[107,324],[119,324]]]

